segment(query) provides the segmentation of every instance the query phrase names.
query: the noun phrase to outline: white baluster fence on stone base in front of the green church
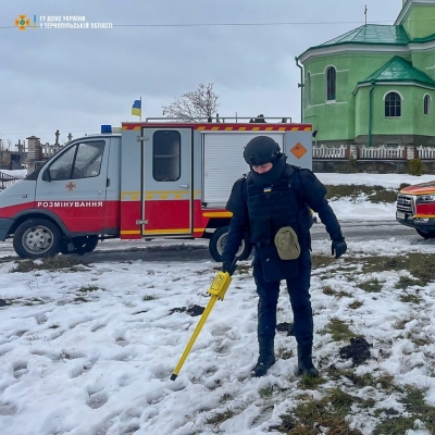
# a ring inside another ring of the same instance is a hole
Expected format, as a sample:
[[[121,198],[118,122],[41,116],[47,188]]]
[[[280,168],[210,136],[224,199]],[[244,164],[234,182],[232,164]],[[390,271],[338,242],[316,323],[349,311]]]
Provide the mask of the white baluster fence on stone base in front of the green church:
[[[424,163],[426,173],[435,173],[435,147],[313,146],[314,172],[406,173],[408,162],[413,159]]]

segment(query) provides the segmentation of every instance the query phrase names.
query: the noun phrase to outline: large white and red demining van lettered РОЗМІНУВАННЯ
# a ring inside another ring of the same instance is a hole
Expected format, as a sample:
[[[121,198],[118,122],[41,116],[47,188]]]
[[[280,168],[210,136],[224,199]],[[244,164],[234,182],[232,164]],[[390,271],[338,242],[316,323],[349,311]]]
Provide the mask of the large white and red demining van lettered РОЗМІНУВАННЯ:
[[[75,139],[0,192],[0,240],[12,237],[20,257],[38,259],[91,252],[108,238],[209,238],[221,261],[232,216],[225,204],[249,171],[246,144],[266,135],[289,163],[312,164],[311,125],[247,120],[147,119]],[[250,252],[246,235],[238,254]]]

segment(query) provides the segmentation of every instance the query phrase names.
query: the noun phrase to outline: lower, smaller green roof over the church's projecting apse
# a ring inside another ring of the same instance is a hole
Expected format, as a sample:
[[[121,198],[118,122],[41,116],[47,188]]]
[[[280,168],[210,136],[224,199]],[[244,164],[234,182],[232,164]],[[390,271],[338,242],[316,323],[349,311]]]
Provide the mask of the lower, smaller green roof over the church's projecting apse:
[[[384,66],[375,71],[372,75],[365,78],[365,80],[359,82],[359,84],[373,82],[417,82],[435,87],[435,80],[433,80],[427,74],[423,73],[423,71],[412,66],[411,62],[400,58],[399,55],[391,58]]]

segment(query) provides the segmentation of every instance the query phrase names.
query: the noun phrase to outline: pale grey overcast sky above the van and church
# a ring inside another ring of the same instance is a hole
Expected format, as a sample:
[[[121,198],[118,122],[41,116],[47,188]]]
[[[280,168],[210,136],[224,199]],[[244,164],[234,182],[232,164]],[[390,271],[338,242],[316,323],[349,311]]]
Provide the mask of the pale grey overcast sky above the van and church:
[[[299,122],[295,57],[364,24],[365,4],[369,23],[394,24],[402,1],[1,1],[0,138],[51,144],[57,128],[62,141],[98,133],[101,124],[137,121],[130,108],[139,97],[144,117],[161,116],[162,105],[200,83],[214,83],[222,116]],[[114,27],[20,32],[20,14],[80,15]]]

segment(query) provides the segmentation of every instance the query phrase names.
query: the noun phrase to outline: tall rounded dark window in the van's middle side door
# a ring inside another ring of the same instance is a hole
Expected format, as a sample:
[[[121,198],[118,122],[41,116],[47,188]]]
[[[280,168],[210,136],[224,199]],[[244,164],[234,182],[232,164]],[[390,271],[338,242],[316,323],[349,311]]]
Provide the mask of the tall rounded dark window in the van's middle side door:
[[[181,176],[179,132],[158,130],[152,136],[152,176],[157,182],[176,182]]]

